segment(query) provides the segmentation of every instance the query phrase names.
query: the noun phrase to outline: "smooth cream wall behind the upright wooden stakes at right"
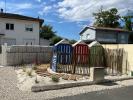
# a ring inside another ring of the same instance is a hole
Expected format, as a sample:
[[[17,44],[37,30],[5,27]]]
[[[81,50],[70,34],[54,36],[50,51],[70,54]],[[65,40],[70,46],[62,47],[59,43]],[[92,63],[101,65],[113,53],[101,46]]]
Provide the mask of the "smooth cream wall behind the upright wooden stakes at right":
[[[133,44],[104,44],[102,46],[109,49],[124,49],[123,60],[126,60],[126,63],[123,62],[123,66],[128,66],[128,70],[133,71]]]

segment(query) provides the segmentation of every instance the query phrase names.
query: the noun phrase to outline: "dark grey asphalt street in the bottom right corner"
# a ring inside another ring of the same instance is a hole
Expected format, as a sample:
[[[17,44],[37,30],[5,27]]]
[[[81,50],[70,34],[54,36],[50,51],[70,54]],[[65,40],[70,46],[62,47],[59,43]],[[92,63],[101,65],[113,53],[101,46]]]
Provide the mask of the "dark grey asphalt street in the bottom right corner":
[[[56,98],[52,100],[133,100],[133,86]]]

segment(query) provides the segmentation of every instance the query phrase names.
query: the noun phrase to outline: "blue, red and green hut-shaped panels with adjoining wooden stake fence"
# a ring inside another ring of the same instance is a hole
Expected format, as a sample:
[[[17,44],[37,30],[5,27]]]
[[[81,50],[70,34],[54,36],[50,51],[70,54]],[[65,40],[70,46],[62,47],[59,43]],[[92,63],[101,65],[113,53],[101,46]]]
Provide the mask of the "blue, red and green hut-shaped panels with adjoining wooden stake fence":
[[[104,67],[105,74],[127,73],[128,65],[124,49],[108,49],[102,45],[89,47],[85,43],[59,44],[54,47],[53,71],[89,75],[91,67]],[[124,71],[123,71],[124,70]]]

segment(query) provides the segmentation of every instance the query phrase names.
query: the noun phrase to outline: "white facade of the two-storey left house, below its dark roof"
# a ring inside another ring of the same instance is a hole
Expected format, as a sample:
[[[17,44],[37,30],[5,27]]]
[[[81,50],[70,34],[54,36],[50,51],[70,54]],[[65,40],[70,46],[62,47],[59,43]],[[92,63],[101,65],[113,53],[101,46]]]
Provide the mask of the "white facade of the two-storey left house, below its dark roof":
[[[6,30],[6,23],[14,24],[14,30]],[[25,31],[26,24],[33,24],[33,32]],[[34,44],[39,44],[39,22],[0,18],[0,33],[5,34],[2,39],[16,39],[16,45],[24,44],[25,39],[35,40]]]

